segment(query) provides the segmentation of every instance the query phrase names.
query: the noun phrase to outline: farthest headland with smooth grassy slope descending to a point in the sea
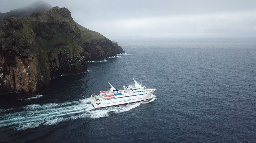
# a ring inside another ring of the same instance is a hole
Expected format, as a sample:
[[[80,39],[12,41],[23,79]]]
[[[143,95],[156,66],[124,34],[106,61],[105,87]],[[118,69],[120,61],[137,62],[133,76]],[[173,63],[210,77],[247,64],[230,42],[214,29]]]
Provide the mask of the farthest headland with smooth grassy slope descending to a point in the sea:
[[[119,53],[125,53],[124,50],[118,46],[117,42],[112,42],[98,32],[84,28],[78,23],[76,24],[81,31],[82,47],[84,48],[88,61],[101,61],[104,58],[117,56],[116,54]]]

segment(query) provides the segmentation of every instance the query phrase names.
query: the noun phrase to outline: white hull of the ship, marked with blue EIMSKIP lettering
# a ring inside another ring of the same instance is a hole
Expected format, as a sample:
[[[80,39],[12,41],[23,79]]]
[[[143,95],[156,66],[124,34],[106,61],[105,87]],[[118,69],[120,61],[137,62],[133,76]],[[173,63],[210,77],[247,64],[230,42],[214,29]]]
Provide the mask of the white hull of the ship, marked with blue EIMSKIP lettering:
[[[101,100],[101,101],[91,100],[91,104],[94,106],[94,108],[105,108],[110,106],[129,105],[129,104],[138,103],[142,101],[148,101],[154,97],[153,92],[155,90],[156,89],[148,89],[145,92],[122,94],[120,97],[115,96],[113,99],[109,99],[109,100]]]

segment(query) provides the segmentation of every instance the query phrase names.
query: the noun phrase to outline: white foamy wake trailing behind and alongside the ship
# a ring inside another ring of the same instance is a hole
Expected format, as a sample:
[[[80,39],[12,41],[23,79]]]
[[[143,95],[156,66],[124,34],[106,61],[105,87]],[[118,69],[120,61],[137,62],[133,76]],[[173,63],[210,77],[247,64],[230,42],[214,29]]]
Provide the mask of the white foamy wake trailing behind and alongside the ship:
[[[145,103],[154,101],[155,97]],[[73,120],[79,118],[96,119],[104,116],[109,116],[109,113],[126,112],[141,103],[130,104],[126,106],[108,107],[103,109],[94,109],[90,104],[90,97],[65,103],[50,103],[50,104],[32,104],[19,108],[17,112],[15,109],[0,110],[0,128],[9,127],[17,130],[27,128],[36,128],[39,125],[52,125],[65,120]],[[144,103],[143,103],[144,104]],[[6,111],[13,111],[8,113]]]

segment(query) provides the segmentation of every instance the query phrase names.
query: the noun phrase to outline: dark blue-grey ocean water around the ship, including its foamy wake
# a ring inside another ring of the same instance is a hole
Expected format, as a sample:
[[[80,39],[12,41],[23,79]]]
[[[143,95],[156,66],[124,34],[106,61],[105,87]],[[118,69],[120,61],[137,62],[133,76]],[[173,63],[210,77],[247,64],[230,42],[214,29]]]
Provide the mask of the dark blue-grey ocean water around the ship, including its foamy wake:
[[[1,96],[0,142],[256,142],[254,39],[121,41],[128,54],[51,80],[51,90]],[[94,109],[90,94],[139,80],[146,103]]]

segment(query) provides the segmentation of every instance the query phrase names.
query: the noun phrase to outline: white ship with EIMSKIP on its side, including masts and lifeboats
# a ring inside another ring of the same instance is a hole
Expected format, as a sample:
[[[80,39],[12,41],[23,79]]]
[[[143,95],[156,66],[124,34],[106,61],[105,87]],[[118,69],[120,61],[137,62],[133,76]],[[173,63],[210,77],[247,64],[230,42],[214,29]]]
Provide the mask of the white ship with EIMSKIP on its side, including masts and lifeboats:
[[[109,82],[111,86],[108,91],[100,91],[99,94],[91,95],[91,104],[94,108],[104,108],[110,106],[121,106],[128,105],[141,101],[151,100],[154,95],[154,91],[157,89],[147,89],[140,82],[135,81],[134,84],[127,87],[124,86],[123,90],[115,89]]]

